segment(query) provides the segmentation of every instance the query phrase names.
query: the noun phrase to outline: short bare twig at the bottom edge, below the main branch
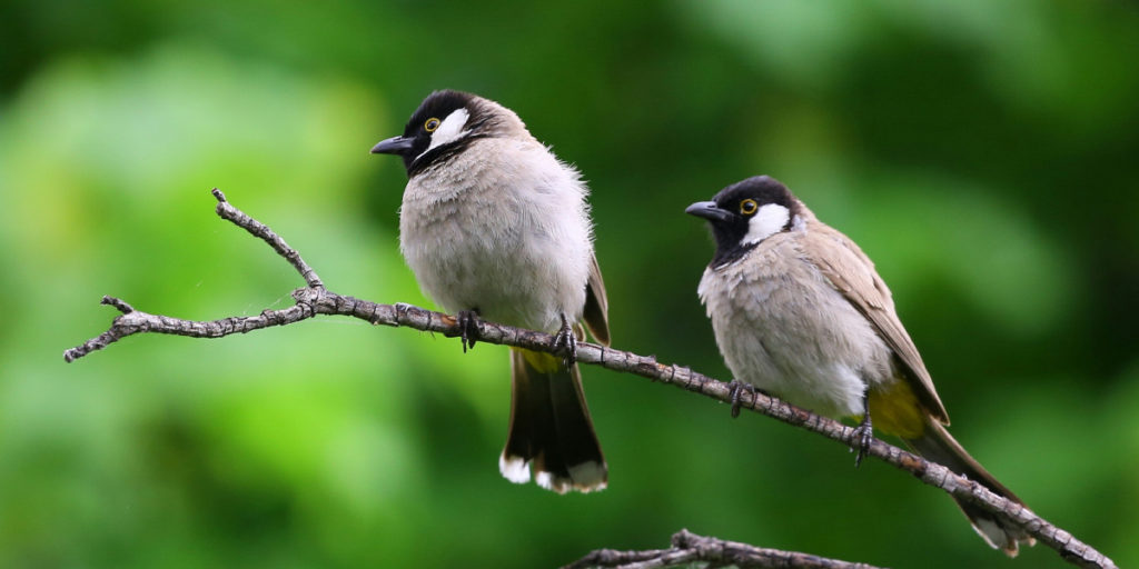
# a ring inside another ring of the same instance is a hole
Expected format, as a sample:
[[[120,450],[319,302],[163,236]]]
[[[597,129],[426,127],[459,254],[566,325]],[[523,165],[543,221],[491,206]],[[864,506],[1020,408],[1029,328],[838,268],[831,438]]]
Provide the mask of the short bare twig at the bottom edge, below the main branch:
[[[694,562],[707,562],[712,567],[732,566],[743,569],[880,569],[866,563],[852,563],[809,553],[769,550],[746,543],[704,537],[687,529],[673,534],[672,547],[667,550],[597,550],[562,569],[587,569],[590,567],[656,569],[687,566]]]

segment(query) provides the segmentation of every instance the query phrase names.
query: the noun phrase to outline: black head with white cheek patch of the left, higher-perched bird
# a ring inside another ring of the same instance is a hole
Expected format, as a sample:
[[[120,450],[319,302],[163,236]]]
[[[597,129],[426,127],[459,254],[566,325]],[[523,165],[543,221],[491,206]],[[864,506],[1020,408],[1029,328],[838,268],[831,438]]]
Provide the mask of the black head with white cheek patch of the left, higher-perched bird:
[[[493,115],[489,101],[460,91],[435,91],[408,119],[402,137],[382,140],[371,154],[403,158],[408,178],[462,151],[472,140],[486,135]]]

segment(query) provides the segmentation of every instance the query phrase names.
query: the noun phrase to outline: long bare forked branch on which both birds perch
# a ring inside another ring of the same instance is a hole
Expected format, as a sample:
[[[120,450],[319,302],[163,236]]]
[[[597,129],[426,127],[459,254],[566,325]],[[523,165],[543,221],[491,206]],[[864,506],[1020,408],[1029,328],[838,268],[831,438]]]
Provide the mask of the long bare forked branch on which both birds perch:
[[[115,318],[106,332],[65,351],[65,361],[73,362],[91,352],[103,349],[115,341],[140,332],[221,338],[231,333],[245,333],[272,325],[292,324],[311,319],[317,314],[352,316],[372,324],[415,328],[421,331],[439,332],[446,337],[460,335],[454,316],[408,304],[377,304],[325,289],[317,272],[284,239],[267,225],[230,205],[226,200],[226,196],[216,188],[213,190],[213,195],[218,199],[216,213],[219,216],[264,240],[278,255],[287,259],[304,279],[308,287],[293,291],[293,299],[296,304],[288,308],[264,311],[256,316],[230,316],[200,322],[137,311],[118,298],[105,296],[103,304],[114,306],[123,314]],[[478,340],[487,344],[522,347],[534,352],[554,353],[557,349],[551,335],[484,320],[478,321]],[[577,361],[649,378],[656,382],[680,387],[723,403],[732,403],[731,387],[728,384],[677,364],[658,363],[653,356],[642,356],[581,341],[577,343]],[[818,432],[846,446],[853,447],[858,444],[854,428],[762,393],[740,391],[739,404],[741,409],[748,409],[785,423]],[[874,439],[867,454],[910,472],[923,483],[941,488],[954,497],[1008,518],[1023,527],[1031,536],[1056,550],[1062,558],[1073,564],[1088,568],[1115,567],[1115,563],[1103,553],[1080,542],[1064,529],[1049,523],[1027,508],[1005,500],[984,486],[958,476],[941,464],[929,462],[879,439]]]

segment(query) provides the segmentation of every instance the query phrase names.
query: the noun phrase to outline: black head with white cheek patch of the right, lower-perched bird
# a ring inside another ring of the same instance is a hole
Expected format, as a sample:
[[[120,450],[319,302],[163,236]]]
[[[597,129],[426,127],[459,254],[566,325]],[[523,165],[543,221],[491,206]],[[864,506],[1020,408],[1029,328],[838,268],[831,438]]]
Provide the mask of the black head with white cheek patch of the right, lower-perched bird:
[[[789,231],[800,214],[798,200],[786,185],[770,176],[748,178],[716,193],[712,201],[697,201],[686,213],[712,224],[716,250],[712,266],[730,263],[764,239]]]

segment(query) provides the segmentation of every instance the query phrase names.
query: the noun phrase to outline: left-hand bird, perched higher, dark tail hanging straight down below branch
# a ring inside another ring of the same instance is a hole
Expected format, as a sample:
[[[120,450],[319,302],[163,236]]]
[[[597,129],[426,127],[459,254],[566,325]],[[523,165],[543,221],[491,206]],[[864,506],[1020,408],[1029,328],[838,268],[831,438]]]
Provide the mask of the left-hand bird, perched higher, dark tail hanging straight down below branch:
[[[372,154],[403,159],[400,250],[420,289],[456,313],[464,352],[480,320],[555,333],[559,355],[510,348],[511,397],[499,471],[542,488],[600,490],[608,465],[575,362],[582,323],[609,344],[608,299],[581,173],[509,108],[434,91],[402,135]]]

